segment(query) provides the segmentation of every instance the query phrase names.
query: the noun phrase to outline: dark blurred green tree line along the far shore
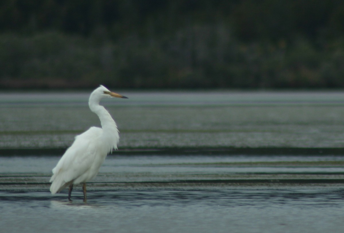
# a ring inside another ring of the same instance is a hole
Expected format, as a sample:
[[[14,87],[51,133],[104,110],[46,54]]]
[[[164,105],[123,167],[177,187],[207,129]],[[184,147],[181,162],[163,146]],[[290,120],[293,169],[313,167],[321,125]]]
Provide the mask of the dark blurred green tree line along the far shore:
[[[2,0],[0,88],[344,87],[342,0]]]

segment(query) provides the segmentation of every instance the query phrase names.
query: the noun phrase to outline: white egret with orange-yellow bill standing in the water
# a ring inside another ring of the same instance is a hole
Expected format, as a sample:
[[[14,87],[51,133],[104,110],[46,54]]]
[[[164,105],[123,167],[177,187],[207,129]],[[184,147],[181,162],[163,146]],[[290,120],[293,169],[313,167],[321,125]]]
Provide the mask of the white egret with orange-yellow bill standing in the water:
[[[99,117],[101,128],[90,127],[86,132],[77,135],[74,143],[69,147],[53,169],[50,191],[52,194],[60,192],[69,186],[68,200],[74,184],[83,183],[84,201],[86,201],[86,182],[93,179],[103,164],[105,157],[113,149],[117,149],[119,141],[116,122],[109,112],[99,102],[104,97],[125,98],[109,91],[100,85],[88,100],[90,110]]]

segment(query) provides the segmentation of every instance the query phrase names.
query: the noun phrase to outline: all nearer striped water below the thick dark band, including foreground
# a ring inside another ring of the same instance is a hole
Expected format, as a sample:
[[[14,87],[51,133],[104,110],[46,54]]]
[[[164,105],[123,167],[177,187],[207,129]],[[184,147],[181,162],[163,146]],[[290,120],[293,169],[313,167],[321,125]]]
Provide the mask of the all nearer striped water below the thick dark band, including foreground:
[[[0,157],[3,232],[342,232],[344,156],[108,156],[73,202],[59,157]],[[292,163],[292,165],[290,165]],[[252,164],[255,164],[252,166]]]

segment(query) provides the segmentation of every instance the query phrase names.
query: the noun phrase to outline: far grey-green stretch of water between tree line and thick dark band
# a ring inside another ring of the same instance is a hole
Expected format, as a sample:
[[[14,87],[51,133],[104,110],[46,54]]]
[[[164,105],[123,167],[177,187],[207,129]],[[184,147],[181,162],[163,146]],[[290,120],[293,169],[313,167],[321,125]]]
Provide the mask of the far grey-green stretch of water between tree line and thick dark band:
[[[121,148],[343,147],[344,92],[127,92],[104,99]],[[89,92],[0,93],[0,148],[65,148],[99,119]]]

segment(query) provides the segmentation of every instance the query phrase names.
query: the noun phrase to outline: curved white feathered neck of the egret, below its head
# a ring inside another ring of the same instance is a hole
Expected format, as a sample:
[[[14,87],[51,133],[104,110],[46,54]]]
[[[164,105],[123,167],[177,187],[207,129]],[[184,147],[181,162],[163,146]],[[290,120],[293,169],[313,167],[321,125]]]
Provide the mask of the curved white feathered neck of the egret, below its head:
[[[101,128],[103,129],[103,143],[108,147],[108,151],[112,152],[113,148],[117,149],[119,141],[117,125],[110,113],[103,106],[99,105],[99,101],[100,99],[94,99],[91,95],[88,105],[90,110],[98,115]]]

